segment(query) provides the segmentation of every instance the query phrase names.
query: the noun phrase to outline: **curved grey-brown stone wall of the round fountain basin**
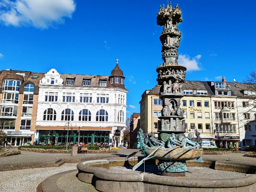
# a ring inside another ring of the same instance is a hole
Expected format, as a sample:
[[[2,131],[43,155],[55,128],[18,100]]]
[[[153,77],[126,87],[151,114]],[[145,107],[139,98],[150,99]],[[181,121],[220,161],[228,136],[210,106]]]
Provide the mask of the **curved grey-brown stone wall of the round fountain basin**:
[[[154,174],[111,173],[107,169],[111,166],[133,166],[138,159],[115,157],[101,160],[88,160],[77,164],[78,179],[92,183],[102,192],[155,192],[179,191],[214,192],[214,191],[256,191],[256,166],[246,163],[230,161],[206,160],[204,163],[187,162],[187,166],[210,167],[216,170],[250,173],[244,177],[233,179],[192,179],[165,177]]]

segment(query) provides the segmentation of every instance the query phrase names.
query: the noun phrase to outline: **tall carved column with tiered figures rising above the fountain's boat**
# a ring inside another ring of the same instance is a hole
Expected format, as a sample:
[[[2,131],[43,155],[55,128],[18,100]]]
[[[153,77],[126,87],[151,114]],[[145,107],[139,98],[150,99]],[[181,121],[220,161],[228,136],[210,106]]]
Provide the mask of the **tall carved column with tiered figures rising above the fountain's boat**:
[[[183,109],[180,109],[180,99],[183,97],[183,83],[185,82],[186,68],[178,64],[178,47],[180,46],[181,32],[178,23],[182,22],[179,4],[175,7],[167,2],[166,7],[160,5],[157,12],[157,25],[163,26],[160,36],[162,43],[163,64],[156,67],[157,82],[161,85],[159,98],[163,101],[161,126],[158,132],[185,132]],[[160,134],[161,137],[162,134]]]

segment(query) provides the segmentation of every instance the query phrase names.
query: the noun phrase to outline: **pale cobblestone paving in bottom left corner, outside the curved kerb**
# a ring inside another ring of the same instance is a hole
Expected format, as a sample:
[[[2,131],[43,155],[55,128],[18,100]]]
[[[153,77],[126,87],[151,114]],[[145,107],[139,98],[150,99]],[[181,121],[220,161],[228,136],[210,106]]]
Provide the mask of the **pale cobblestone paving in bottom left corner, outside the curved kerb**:
[[[0,192],[36,192],[38,184],[46,178],[60,172],[76,169],[76,165],[77,163],[72,163],[63,164],[60,167],[0,172]]]

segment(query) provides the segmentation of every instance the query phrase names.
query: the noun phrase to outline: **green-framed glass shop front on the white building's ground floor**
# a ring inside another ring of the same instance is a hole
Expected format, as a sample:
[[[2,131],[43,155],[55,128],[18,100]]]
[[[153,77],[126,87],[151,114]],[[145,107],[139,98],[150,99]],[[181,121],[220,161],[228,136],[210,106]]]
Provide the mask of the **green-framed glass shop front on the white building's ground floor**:
[[[38,130],[38,143],[65,145],[68,143],[84,142],[85,144],[109,144],[108,130]]]

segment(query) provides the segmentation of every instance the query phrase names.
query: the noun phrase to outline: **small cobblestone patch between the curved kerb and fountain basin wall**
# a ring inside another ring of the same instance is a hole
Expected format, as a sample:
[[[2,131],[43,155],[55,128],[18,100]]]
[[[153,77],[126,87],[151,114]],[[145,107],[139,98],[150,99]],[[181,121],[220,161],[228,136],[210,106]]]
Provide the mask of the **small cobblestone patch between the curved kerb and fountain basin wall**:
[[[66,192],[97,192],[91,184],[78,180],[76,175],[77,171],[62,175],[56,180],[57,186]]]

